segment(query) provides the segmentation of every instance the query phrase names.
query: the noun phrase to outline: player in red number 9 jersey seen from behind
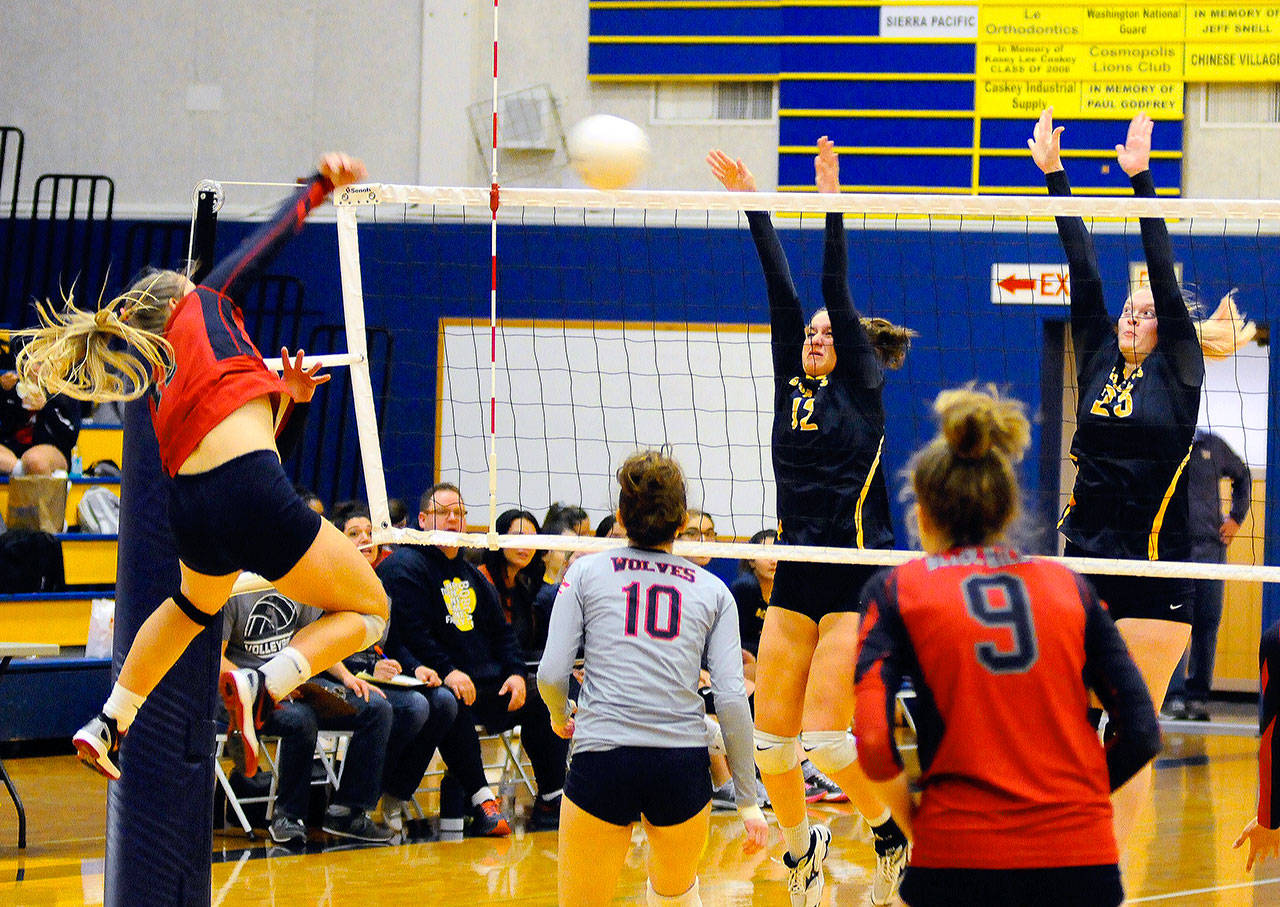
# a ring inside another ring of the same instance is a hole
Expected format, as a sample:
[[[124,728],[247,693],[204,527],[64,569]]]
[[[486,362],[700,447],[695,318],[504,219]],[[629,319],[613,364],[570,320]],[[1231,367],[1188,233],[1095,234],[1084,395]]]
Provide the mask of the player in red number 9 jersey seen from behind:
[[[1018,513],[1029,426],[993,391],[942,393],[940,436],[911,461],[927,556],[863,592],[858,756],[911,835],[911,907],[1114,907],[1110,792],[1160,748],[1137,666],[1088,581],[1000,545]],[[893,742],[916,695],[919,805]],[[1103,750],[1089,691],[1112,716]]]

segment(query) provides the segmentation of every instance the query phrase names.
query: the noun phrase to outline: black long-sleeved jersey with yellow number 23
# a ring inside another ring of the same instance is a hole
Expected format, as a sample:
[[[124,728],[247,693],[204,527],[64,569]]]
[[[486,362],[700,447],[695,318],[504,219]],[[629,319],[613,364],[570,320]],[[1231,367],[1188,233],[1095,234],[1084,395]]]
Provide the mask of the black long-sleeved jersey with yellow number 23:
[[[1052,196],[1071,194],[1062,171]],[[1149,171],[1134,194],[1155,197]],[[1093,241],[1080,217],[1057,217],[1071,272],[1071,340],[1079,402],[1071,459],[1079,469],[1059,528],[1107,558],[1178,560],[1189,549],[1187,462],[1199,414],[1204,361],[1174,271],[1169,230],[1142,219],[1142,244],[1156,302],[1156,348],[1125,376],[1115,321],[1102,299]]]

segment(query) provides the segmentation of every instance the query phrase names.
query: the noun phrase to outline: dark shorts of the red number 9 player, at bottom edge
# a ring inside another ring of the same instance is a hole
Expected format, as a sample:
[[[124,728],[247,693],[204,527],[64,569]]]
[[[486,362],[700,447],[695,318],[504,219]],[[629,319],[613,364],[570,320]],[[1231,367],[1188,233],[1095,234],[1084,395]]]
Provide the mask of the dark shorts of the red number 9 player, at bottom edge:
[[[901,898],[911,907],[1117,907],[1120,867],[928,869],[908,866]]]

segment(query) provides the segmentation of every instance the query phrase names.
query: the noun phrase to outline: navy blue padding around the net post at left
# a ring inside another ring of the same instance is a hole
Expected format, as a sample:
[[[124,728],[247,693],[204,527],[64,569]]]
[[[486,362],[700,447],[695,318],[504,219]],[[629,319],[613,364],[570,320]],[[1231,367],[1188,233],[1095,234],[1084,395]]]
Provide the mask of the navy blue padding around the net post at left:
[[[127,404],[123,421],[113,678],[142,622],[180,580],[169,478],[146,398]],[[105,907],[210,903],[220,645],[218,620],[152,691],[124,738],[122,775],[108,797]]]

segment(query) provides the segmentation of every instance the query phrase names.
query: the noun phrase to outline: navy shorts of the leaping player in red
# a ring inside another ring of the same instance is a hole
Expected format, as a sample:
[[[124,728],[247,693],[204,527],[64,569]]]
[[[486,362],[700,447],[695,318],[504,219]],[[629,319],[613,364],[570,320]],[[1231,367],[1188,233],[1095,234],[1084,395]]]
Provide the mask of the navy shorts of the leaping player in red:
[[[206,576],[252,571],[275,582],[320,532],[274,450],[253,450],[209,472],[175,476],[169,521],[178,556]]]

